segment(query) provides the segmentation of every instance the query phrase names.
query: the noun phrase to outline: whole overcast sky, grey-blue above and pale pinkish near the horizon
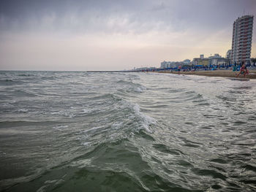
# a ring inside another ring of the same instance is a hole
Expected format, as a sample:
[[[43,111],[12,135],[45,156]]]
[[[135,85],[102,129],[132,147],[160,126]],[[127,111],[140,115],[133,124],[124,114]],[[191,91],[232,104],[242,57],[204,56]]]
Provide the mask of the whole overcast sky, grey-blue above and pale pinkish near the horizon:
[[[0,0],[0,70],[124,70],[225,57],[242,15],[256,16],[255,0]]]

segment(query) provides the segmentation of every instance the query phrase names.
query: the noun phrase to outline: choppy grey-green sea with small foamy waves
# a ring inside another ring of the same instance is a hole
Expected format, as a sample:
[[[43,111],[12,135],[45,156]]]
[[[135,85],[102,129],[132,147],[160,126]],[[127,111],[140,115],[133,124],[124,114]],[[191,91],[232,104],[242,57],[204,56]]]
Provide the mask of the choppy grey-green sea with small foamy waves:
[[[1,71],[0,191],[256,191],[256,81]]]

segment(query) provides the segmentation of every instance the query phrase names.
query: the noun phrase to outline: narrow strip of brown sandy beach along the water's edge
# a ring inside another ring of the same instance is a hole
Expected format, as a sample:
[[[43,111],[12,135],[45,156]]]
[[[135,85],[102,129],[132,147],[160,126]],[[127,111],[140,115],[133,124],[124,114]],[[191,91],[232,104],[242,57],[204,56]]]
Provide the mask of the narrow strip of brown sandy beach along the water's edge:
[[[178,72],[161,71],[159,73],[172,73],[178,74]],[[180,74],[195,74],[210,77],[236,77],[239,72],[233,72],[232,70],[215,70],[215,71],[196,71],[196,72],[180,72]],[[238,78],[244,78],[244,75],[240,74]],[[246,74],[245,78],[256,79],[256,70],[249,70],[249,74]]]

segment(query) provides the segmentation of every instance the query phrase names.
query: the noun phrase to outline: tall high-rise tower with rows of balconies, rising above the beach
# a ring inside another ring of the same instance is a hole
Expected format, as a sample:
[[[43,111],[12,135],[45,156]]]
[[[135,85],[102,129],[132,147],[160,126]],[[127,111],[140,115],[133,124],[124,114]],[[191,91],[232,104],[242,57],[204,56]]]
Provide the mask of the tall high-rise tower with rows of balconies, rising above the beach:
[[[233,23],[231,61],[236,64],[249,62],[252,49],[253,16],[244,15]]]

